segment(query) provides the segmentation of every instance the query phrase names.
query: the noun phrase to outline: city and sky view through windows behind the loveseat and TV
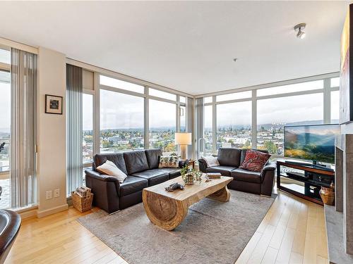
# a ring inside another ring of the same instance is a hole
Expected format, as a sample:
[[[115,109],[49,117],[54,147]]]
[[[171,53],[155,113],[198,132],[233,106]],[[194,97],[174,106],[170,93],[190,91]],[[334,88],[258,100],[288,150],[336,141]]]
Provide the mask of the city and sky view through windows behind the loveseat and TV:
[[[335,80],[337,78],[333,78]],[[331,80],[331,82],[332,82]],[[322,89],[323,81],[311,82],[316,84],[313,89]],[[293,89],[294,85],[288,86]],[[299,91],[307,90],[308,84],[296,84]],[[305,88],[305,89],[304,89]],[[286,93],[287,91],[265,89],[267,93]],[[292,92],[292,91],[291,91]],[[330,122],[338,122],[338,91],[330,92]],[[209,100],[208,103],[211,103]],[[217,116],[213,117],[213,107]],[[266,149],[275,155],[284,155],[284,127],[285,125],[317,125],[323,124],[323,92],[315,94],[301,94],[295,96],[281,96],[270,99],[256,100],[256,148]],[[249,149],[252,146],[251,129],[251,101],[236,103],[216,103],[204,106],[204,139],[205,154],[217,152],[220,147],[234,147]],[[213,118],[216,118],[217,145],[213,148]]]

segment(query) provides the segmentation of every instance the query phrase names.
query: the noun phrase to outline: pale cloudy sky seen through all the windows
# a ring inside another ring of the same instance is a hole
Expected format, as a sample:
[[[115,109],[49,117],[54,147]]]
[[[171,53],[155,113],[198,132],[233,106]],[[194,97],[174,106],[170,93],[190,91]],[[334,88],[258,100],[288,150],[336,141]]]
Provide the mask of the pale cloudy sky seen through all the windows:
[[[319,84],[318,84],[319,85]],[[0,132],[10,127],[10,84],[0,82]],[[110,92],[100,94],[101,129],[142,128],[143,97]],[[174,103],[150,100],[150,127],[175,127]],[[251,125],[251,101],[217,104],[217,127]],[[262,99],[257,103],[258,125],[323,120],[323,93]],[[92,95],[83,94],[83,130],[92,130]],[[331,119],[338,119],[339,92],[331,93]],[[212,127],[212,106],[205,106],[205,127]]]

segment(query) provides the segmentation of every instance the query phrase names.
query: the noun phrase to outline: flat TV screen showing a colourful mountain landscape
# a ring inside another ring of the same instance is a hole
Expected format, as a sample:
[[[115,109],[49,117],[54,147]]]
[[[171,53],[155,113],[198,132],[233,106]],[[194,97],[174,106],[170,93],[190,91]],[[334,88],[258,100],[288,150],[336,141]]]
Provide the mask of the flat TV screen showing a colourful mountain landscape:
[[[335,163],[335,134],[340,125],[285,126],[285,157]]]

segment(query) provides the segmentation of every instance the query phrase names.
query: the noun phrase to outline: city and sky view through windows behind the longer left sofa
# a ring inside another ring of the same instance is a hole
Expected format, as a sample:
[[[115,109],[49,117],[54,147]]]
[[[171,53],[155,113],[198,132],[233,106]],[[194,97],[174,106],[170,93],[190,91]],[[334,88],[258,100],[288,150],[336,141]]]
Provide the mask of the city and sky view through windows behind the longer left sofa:
[[[100,153],[144,149],[144,100],[100,90]],[[177,151],[177,104],[154,99],[148,103],[150,148],[162,149],[164,153]],[[180,106],[180,130],[186,131],[186,106]],[[92,162],[92,146],[93,96],[83,94],[83,163]]]

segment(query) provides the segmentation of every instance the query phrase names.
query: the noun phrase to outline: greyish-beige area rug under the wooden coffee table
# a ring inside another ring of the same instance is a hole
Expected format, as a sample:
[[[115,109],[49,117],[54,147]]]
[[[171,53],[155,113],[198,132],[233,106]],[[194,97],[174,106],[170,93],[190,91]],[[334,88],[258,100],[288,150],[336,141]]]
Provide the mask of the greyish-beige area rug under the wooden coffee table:
[[[114,215],[103,210],[78,221],[128,263],[234,263],[275,201],[229,190],[227,203],[203,199],[174,231],[152,224],[143,203]]]

